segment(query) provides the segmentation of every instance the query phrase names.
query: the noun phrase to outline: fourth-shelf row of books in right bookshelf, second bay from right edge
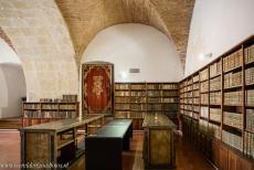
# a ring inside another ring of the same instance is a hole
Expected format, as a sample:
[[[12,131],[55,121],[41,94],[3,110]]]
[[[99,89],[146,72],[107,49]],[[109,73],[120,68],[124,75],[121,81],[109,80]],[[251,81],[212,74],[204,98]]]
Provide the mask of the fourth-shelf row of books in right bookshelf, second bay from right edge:
[[[223,124],[243,129],[243,115],[237,113],[223,113]]]

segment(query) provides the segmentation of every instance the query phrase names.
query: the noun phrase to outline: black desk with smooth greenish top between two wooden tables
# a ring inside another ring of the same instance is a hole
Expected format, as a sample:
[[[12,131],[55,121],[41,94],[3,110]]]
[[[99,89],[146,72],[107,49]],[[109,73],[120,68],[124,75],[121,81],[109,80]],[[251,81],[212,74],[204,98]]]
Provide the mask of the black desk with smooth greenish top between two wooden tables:
[[[86,170],[121,170],[121,151],[129,150],[130,119],[115,119],[85,138]]]

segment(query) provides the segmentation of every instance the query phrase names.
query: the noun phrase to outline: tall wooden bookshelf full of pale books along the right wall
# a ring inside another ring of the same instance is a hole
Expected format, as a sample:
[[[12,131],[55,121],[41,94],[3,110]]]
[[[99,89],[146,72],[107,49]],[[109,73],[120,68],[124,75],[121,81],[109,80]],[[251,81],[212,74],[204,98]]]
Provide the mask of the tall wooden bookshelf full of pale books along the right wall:
[[[253,106],[254,35],[180,82],[183,134],[195,144],[200,144],[201,150],[210,155],[219,168],[223,168],[225,162],[218,161],[215,155],[222,157],[225,155],[223,150],[241,158],[237,160],[253,161]],[[194,113],[198,116],[193,116]],[[214,142],[218,146],[213,145]],[[224,149],[221,149],[223,147]],[[215,150],[219,152],[215,153]],[[225,156],[225,159],[231,158],[232,156]],[[251,168],[252,166],[253,163]]]

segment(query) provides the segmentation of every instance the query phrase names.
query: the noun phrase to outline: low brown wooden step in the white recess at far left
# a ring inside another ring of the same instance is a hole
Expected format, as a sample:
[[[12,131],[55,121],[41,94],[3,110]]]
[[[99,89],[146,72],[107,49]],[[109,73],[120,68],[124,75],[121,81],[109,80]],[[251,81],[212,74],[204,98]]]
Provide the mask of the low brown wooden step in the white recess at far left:
[[[22,127],[21,117],[11,117],[0,119],[0,129],[19,129]]]

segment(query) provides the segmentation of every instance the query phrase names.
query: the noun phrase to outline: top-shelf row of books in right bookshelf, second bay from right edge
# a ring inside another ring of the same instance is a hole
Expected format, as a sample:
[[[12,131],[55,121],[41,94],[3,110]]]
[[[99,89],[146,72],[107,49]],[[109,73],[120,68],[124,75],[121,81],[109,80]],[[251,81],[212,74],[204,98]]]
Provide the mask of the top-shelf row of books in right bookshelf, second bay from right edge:
[[[234,67],[239,67],[241,65],[243,65],[242,63],[242,55],[243,52],[242,52],[242,49],[237,50],[236,52],[225,56],[223,59],[223,71],[226,72],[226,71],[230,71]]]

